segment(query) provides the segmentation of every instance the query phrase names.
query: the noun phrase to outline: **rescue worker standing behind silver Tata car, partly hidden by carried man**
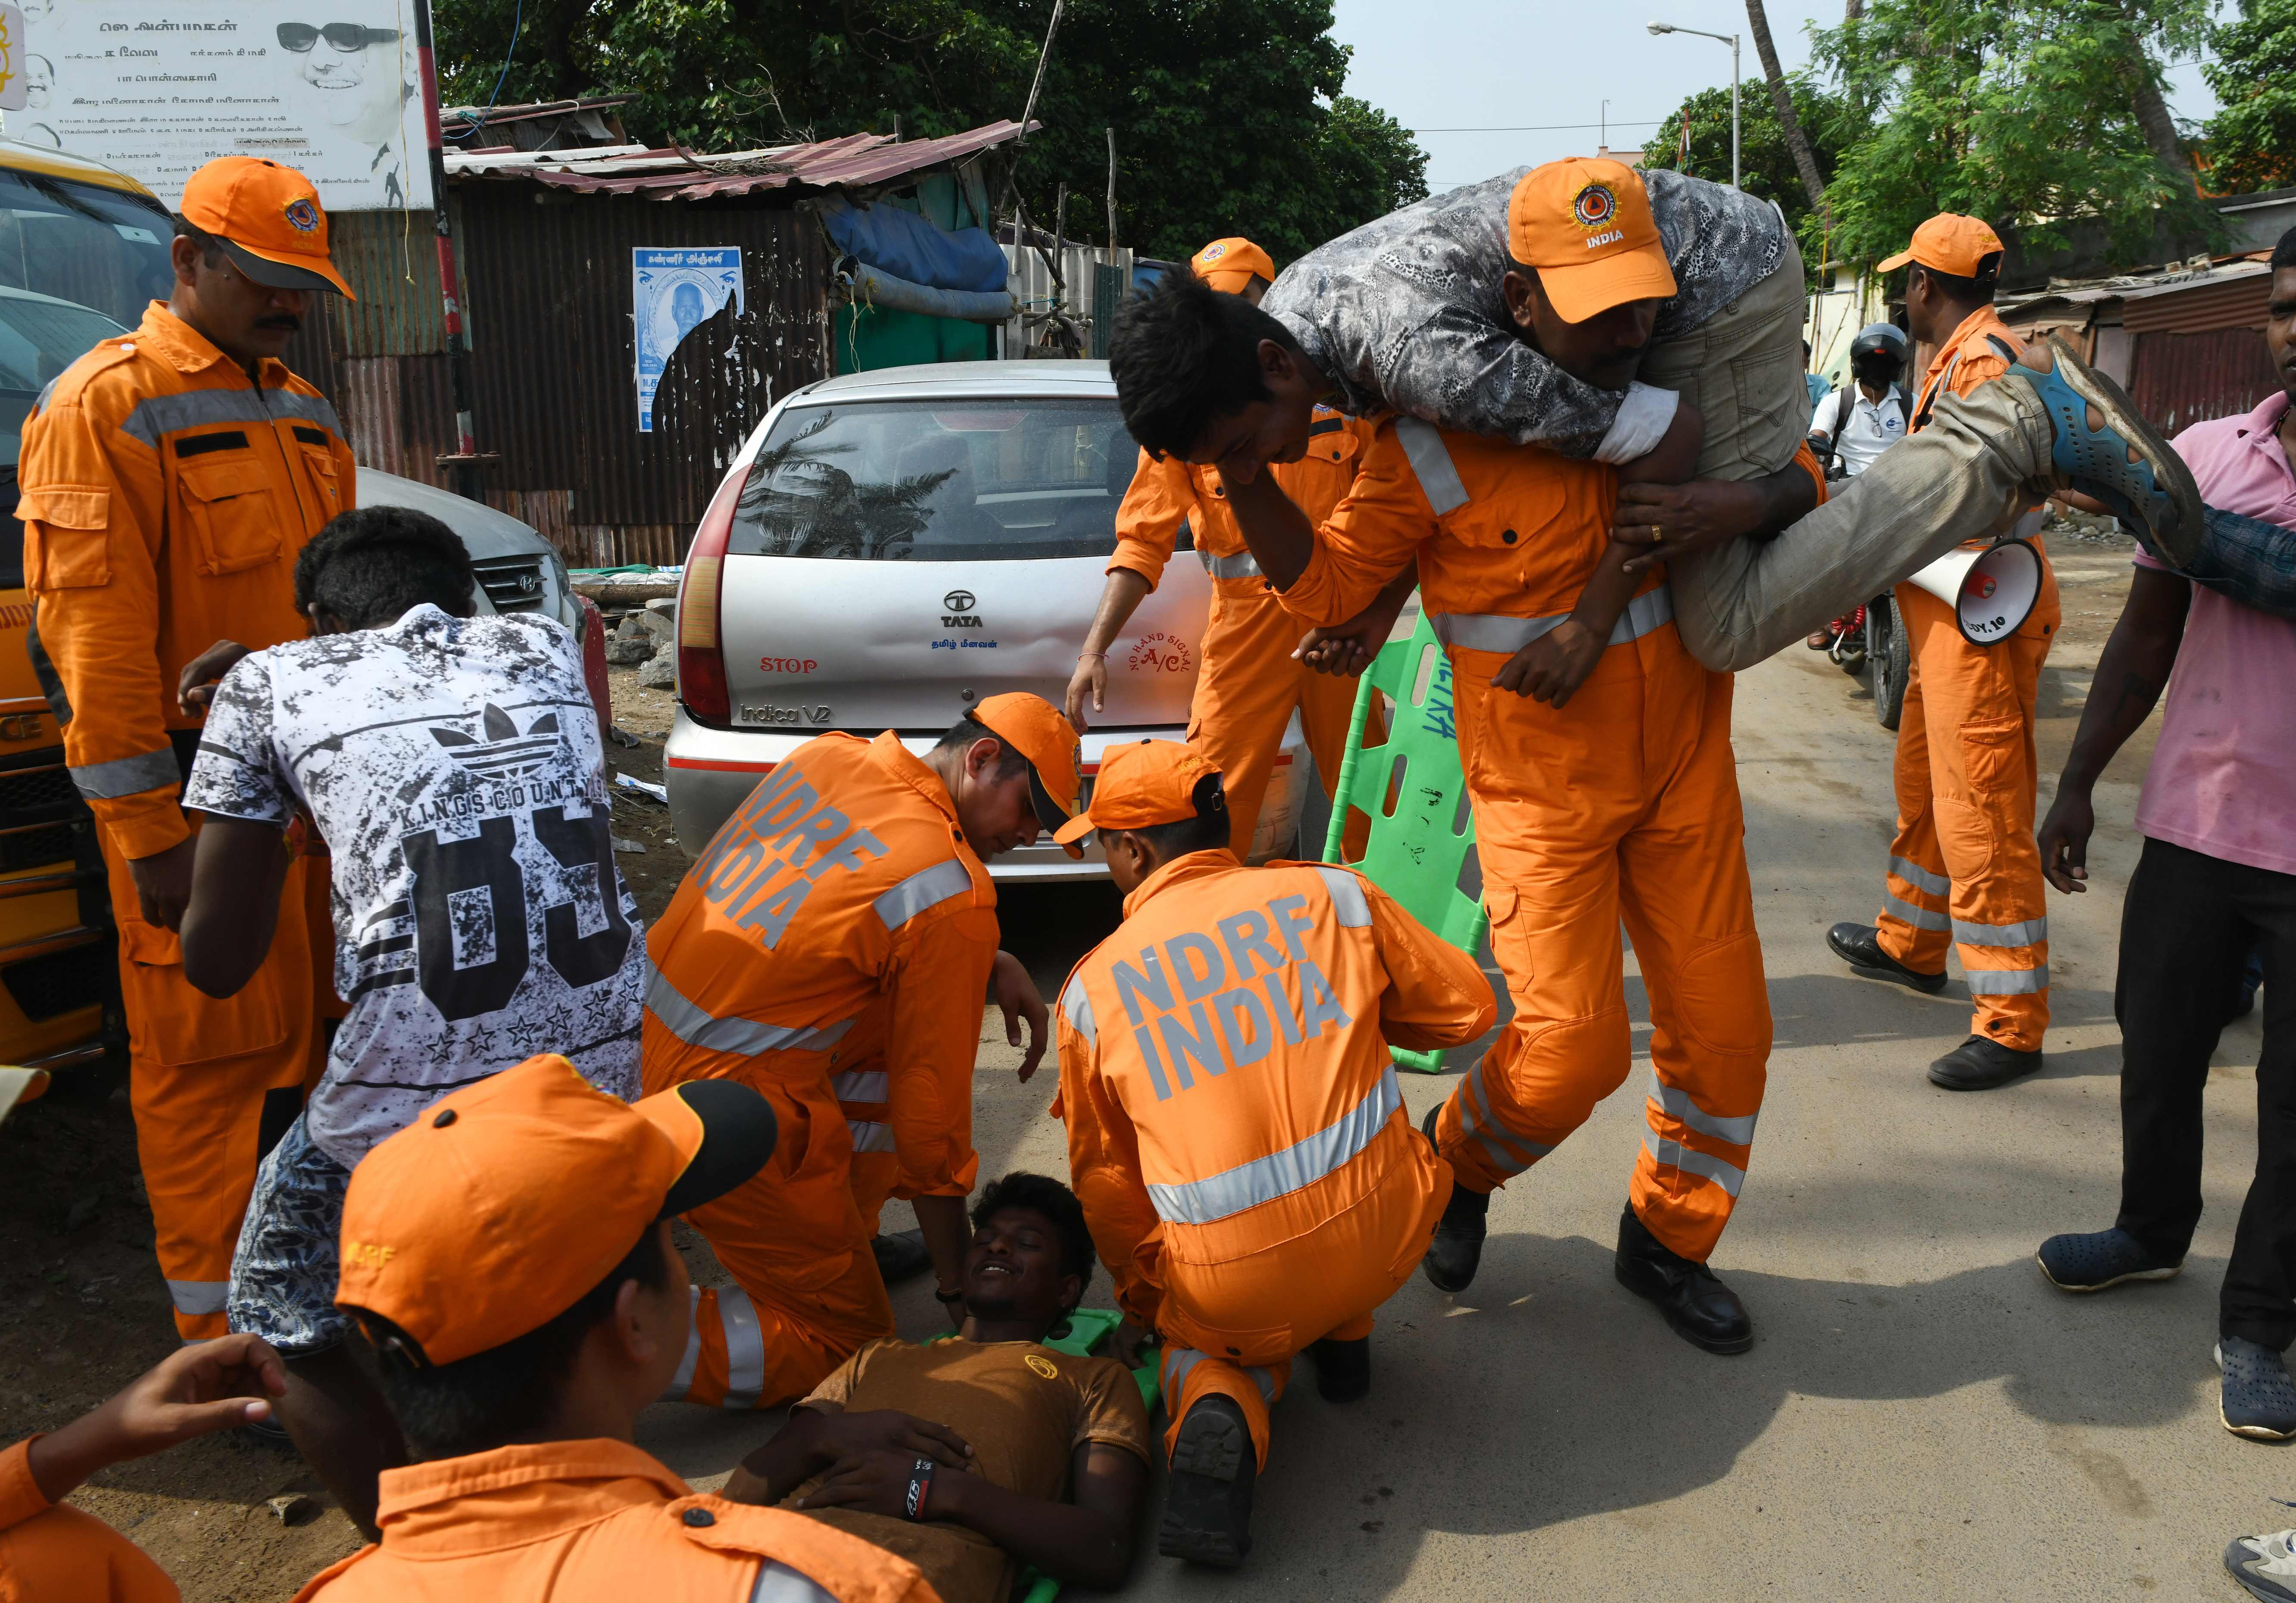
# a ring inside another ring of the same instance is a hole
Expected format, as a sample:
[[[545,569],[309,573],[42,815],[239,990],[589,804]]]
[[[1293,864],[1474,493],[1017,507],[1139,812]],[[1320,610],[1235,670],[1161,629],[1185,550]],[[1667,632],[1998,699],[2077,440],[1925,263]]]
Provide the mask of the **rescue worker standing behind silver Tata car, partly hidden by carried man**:
[[[1189,266],[1212,289],[1254,305],[1277,273],[1267,253],[1249,239],[1215,239]],[[1355,464],[1368,439],[1366,423],[1318,406],[1309,423],[1306,455],[1277,466],[1277,482],[1320,521],[1355,482]],[[1300,710],[1322,792],[1332,797],[1339,788],[1339,760],[1348,751],[1355,687],[1295,661],[1293,652],[1304,629],[1261,579],[1226,496],[1219,468],[1192,468],[1178,457],[1157,459],[1141,452],[1132,487],[1116,508],[1116,556],[1109,558],[1100,611],[1093,615],[1084,650],[1077,652],[1077,673],[1068,682],[1068,721],[1088,728],[1086,696],[1093,712],[1102,710],[1109,648],[1164,579],[1164,563],[1171,560],[1180,531],[1194,531],[1196,556],[1212,576],[1212,615],[1203,627],[1196,694],[1187,710],[1187,744],[1219,769],[1235,827],[1231,845],[1238,857],[1249,857],[1267,776],[1283,746],[1293,707]],[[1401,604],[1401,597],[1396,602]],[[1366,739],[1378,739],[1378,730]]]

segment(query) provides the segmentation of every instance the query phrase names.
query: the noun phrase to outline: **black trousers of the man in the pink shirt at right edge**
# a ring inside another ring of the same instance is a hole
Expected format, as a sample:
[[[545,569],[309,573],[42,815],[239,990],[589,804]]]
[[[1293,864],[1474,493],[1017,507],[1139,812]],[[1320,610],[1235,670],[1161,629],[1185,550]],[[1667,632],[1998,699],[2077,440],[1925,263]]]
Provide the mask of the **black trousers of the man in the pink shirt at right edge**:
[[[2248,953],[2264,946],[2257,1178],[2225,1268],[2218,1330],[2296,1341],[2296,875],[2144,841],[2122,905],[2119,1226],[2170,1263],[2200,1224],[2200,1093]]]

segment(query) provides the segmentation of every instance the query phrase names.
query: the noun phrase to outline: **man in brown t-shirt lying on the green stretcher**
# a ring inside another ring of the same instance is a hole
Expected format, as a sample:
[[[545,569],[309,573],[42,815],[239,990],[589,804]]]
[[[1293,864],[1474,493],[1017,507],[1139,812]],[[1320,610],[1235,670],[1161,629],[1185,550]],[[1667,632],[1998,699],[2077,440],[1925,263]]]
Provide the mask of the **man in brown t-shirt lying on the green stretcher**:
[[[974,1206],[957,1334],[863,1346],[723,1495],[872,1541],[925,1571],[944,1603],[1003,1603],[1024,1564],[1123,1585],[1148,1490],[1148,1408],[1116,1357],[1040,1346],[1091,1277],[1075,1192],[1008,1174]]]

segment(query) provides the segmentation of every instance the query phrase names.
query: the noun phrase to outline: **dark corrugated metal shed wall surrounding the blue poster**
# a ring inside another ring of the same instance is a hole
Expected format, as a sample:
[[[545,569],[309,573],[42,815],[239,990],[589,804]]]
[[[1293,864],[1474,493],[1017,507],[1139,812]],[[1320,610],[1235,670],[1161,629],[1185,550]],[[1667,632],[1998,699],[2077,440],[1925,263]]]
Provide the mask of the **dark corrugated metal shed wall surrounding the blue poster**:
[[[822,248],[788,207],[556,193],[535,204],[537,193],[468,184],[457,195],[480,450],[503,457],[489,498],[569,491],[567,531],[629,528],[659,558],[774,400],[829,372]],[[631,379],[638,246],[739,246],[746,301],[677,347],[652,434],[638,434]],[[618,542],[604,540],[606,556],[622,560]],[[597,535],[588,544],[583,556],[597,556]]]

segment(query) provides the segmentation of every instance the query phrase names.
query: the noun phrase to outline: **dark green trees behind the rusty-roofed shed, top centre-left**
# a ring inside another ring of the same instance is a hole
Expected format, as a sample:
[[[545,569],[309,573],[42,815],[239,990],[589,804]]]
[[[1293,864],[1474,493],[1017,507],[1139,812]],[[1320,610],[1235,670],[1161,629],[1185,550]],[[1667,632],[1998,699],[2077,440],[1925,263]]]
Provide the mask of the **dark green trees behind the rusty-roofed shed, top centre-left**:
[[[753,149],[1019,117],[1052,0],[439,0],[450,103],[641,94],[634,138]],[[1070,0],[1017,156],[1029,218],[1159,257],[1247,234],[1286,262],[1426,193],[1426,154],[1343,94],[1332,0]],[[510,71],[503,60],[510,55]]]

